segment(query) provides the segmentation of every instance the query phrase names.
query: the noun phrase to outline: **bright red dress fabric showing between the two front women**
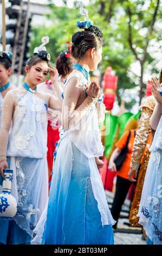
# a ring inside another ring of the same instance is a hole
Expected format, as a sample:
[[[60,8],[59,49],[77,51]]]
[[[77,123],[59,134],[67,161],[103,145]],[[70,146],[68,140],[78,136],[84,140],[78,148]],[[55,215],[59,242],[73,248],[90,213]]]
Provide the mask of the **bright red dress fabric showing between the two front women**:
[[[53,170],[53,154],[55,150],[55,143],[59,141],[59,129],[54,130],[53,127],[50,125],[50,121],[48,121],[47,126],[47,162],[48,162],[48,178],[49,183],[51,181],[51,171]]]

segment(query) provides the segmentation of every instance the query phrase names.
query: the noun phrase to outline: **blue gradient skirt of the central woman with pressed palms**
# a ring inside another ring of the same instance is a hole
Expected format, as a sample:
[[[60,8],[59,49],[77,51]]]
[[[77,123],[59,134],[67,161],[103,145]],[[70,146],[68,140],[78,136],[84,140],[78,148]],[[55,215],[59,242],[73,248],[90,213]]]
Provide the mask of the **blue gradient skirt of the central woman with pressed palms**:
[[[42,243],[113,244],[112,225],[102,226],[92,190],[88,158],[73,143],[72,150],[73,167],[67,193],[63,190],[66,176],[61,179],[60,172],[53,174]]]

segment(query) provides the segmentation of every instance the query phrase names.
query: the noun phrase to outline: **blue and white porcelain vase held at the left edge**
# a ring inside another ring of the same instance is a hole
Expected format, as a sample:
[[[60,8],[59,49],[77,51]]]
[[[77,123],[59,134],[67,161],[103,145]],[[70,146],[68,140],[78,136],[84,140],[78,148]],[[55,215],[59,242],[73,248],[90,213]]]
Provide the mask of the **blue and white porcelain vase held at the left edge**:
[[[17,212],[17,201],[11,195],[11,182],[13,170],[4,169],[4,179],[2,184],[2,193],[0,194],[0,220],[12,218]]]

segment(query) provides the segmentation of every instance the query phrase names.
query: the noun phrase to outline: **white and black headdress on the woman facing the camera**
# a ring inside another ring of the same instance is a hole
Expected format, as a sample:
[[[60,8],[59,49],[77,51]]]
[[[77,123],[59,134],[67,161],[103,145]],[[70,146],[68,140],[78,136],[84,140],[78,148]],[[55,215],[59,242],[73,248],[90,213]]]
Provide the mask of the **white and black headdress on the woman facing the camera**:
[[[37,55],[42,60],[50,61],[50,54],[47,52],[46,47],[44,45],[48,44],[49,37],[43,36],[42,38],[42,44],[38,47],[34,48],[34,55]]]

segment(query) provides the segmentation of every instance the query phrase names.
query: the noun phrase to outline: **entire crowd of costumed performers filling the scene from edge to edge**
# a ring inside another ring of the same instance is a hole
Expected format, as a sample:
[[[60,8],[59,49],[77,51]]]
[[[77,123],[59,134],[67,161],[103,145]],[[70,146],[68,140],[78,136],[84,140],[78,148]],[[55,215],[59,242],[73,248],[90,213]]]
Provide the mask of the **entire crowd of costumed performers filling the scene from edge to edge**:
[[[152,78],[153,96],[140,107],[138,128],[124,132],[109,159],[108,168],[116,171],[115,159],[128,144],[110,211],[99,172],[105,105],[89,76],[102,59],[103,33],[87,16],[77,26],[56,68],[49,63],[48,37],[42,39],[20,87],[9,83],[12,54],[0,52],[0,171],[3,178],[4,169],[13,170],[11,193],[18,203],[12,221],[0,218],[0,243],[113,244],[113,227],[137,181],[129,221],[142,225],[147,243],[161,244],[161,73],[159,81]]]

